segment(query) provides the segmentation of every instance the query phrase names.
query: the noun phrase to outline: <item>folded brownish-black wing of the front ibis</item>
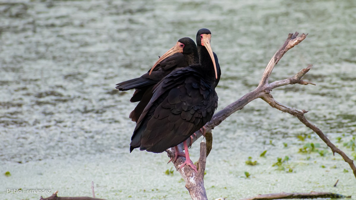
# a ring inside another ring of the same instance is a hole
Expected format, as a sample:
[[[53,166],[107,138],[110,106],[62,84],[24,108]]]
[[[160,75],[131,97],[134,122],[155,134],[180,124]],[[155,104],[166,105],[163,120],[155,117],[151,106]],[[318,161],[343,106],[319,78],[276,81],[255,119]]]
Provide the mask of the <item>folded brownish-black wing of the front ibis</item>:
[[[214,88],[199,72],[189,67],[172,72],[138,119],[130,149],[160,153],[182,143],[211,119],[217,102]]]

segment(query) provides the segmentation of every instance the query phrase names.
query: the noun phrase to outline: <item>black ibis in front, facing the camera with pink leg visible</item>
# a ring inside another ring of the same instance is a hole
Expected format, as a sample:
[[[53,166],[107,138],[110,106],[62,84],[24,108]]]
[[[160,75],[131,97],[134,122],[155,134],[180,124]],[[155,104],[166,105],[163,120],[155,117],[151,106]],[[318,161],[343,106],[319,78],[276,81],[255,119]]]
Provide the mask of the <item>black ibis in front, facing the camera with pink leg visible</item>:
[[[200,29],[197,33],[199,64],[174,70],[153,89],[152,99],[139,117],[131,137],[130,152],[140,150],[161,153],[168,148],[184,144],[186,161],[189,159],[187,138],[211,120],[218,107],[215,87],[220,78],[217,57],[210,46],[211,32]],[[177,155],[176,155],[177,156]]]

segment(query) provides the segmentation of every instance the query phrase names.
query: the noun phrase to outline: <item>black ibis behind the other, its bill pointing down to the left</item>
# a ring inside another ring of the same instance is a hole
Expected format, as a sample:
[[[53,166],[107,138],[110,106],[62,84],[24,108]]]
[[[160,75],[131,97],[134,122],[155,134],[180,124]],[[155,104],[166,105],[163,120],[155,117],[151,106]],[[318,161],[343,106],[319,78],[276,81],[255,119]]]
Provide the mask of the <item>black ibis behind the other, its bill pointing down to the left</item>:
[[[164,53],[151,70],[141,77],[123,81],[116,84],[120,91],[135,89],[131,102],[138,102],[135,109],[130,113],[132,121],[137,122],[143,109],[152,98],[153,87],[165,76],[175,69],[188,67],[198,63],[197,45],[189,37],[178,40],[177,44]]]

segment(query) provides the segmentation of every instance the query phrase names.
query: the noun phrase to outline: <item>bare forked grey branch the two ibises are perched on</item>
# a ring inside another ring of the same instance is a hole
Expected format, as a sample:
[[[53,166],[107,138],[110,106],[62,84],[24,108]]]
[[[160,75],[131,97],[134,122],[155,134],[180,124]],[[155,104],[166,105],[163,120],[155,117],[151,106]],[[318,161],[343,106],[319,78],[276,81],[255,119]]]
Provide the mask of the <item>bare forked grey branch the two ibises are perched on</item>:
[[[333,151],[334,155],[335,155],[335,152],[340,154],[341,157],[345,160],[345,162],[349,163],[349,165],[356,177],[356,167],[354,165],[353,160],[350,159],[349,157],[347,157],[344,152],[342,152],[333,143],[331,143],[330,140],[324,135],[324,133],[318,127],[316,127],[313,123],[309,122],[305,118],[304,114],[307,113],[308,111],[297,110],[292,107],[283,105],[283,104],[279,103],[278,101],[274,100],[274,98],[271,95],[272,89],[278,88],[278,87],[284,86],[284,85],[289,85],[289,84],[301,84],[301,85],[313,84],[313,85],[315,85],[314,83],[311,83],[309,81],[302,80],[302,77],[311,69],[312,65],[309,65],[307,68],[300,70],[293,77],[290,77],[290,78],[284,79],[284,80],[280,80],[280,81],[274,81],[273,83],[268,83],[269,77],[272,73],[274,66],[278,63],[278,61],[282,58],[282,56],[289,49],[293,48],[295,45],[299,44],[307,37],[307,35],[305,35],[304,33],[302,35],[300,35],[299,37],[298,37],[298,35],[299,35],[298,32],[295,32],[294,34],[289,33],[287,40],[284,42],[283,46],[278,49],[278,51],[274,54],[272,59],[269,61],[268,65],[265,69],[265,72],[262,75],[260,84],[258,84],[257,88],[255,90],[247,93],[246,95],[242,96],[239,100],[226,106],[223,110],[217,112],[213,116],[213,118],[208,123],[205,124],[206,132],[211,132],[211,130],[214,127],[218,126],[221,122],[223,122],[232,113],[243,109],[244,106],[247,105],[252,100],[261,98],[264,101],[266,101],[270,106],[297,117],[302,123],[304,123],[305,126],[312,129],[328,145],[328,147],[330,147],[330,149],[331,149],[331,151]],[[195,142],[202,135],[202,133],[200,131],[195,132],[195,134],[197,136],[195,138],[193,138],[192,141],[190,141],[190,138],[188,138],[187,143]],[[179,147],[179,149],[181,151],[182,147]],[[173,156],[174,156],[173,151],[174,151],[173,148],[167,150],[168,157],[173,158]],[[201,152],[202,152],[202,149],[200,149],[200,157],[201,157]],[[205,163],[204,163],[204,168],[199,168],[199,171],[197,174],[190,167],[184,166],[182,169],[179,169],[179,166],[182,165],[184,161],[185,161],[184,157],[179,157],[177,159],[177,161],[174,162],[173,164],[176,167],[176,169],[179,171],[179,173],[182,175],[182,177],[184,178],[184,180],[186,182],[185,186],[189,190],[190,196],[192,196],[192,199],[197,199],[196,196],[199,196],[199,194],[201,194],[200,198],[198,198],[198,199],[206,199],[206,193],[205,193],[203,184],[196,185],[196,186],[200,187],[200,189],[198,189],[198,190],[196,188],[190,187],[190,184],[193,184],[193,185],[196,184],[196,182],[198,181],[197,180],[198,178],[201,178],[201,180],[199,180],[199,183],[204,183],[204,181],[203,181],[204,177],[198,176],[198,174],[204,174]],[[192,181],[190,181],[190,180],[194,180],[194,183],[192,183]],[[200,190],[204,190],[204,193],[200,192]],[[199,191],[199,193],[195,193],[195,191]]]

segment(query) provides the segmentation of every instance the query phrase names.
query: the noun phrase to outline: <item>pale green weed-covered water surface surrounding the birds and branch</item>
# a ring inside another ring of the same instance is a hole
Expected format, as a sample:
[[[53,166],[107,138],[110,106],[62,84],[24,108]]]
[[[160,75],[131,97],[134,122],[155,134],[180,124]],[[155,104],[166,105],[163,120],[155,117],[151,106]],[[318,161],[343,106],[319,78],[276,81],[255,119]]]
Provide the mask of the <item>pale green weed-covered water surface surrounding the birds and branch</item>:
[[[91,196],[91,181],[98,198],[190,199],[166,153],[129,153],[136,104],[129,102],[133,91],[115,84],[147,72],[200,28],[212,32],[222,71],[218,110],[256,88],[288,33],[309,33],[270,81],[313,64],[304,79],[316,86],[272,94],[308,110],[307,119],[355,159],[355,13],[352,0],[0,0],[0,199],[51,196],[7,189]],[[356,196],[349,165],[297,118],[260,99],[213,137],[209,199],[282,191]],[[189,152],[197,160],[199,144]]]

